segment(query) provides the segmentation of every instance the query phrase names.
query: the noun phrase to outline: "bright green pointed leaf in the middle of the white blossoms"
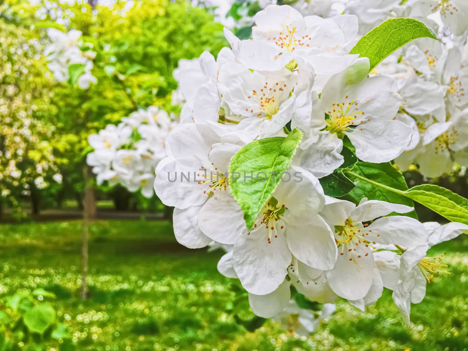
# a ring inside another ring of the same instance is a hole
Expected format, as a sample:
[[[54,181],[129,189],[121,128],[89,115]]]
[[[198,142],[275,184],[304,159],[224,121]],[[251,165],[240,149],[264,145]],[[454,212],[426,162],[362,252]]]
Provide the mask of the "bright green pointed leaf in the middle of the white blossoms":
[[[254,225],[263,205],[275,191],[280,182],[279,175],[289,168],[301,139],[302,132],[296,128],[286,138],[255,140],[232,157],[229,188],[244,212],[247,228]],[[240,175],[240,178],[234,179],[234,175]],[[245,179],[244,176],[250,175],[253,176],[251,181],[250,178]]]

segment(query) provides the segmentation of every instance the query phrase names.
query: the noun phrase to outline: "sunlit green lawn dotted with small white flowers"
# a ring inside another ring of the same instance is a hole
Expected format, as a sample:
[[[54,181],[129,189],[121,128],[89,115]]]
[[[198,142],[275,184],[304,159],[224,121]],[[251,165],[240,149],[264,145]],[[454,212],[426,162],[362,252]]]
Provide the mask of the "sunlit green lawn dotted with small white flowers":
[[[2,225],[0,241],[0,300],[20,288],[54,291],[51,304],[77,350],[468,350],[468,236],[432,249],[447,253],[452,274],[436,278],[413,305],[412,329],[386,290],[366,313],[338,300],[307,339],[276,322],[255,333],[237,325],[226,306],[239,283],[216,270],[223,253],[183,248],[167,222],[92,223],[84,302],[79,221]]]

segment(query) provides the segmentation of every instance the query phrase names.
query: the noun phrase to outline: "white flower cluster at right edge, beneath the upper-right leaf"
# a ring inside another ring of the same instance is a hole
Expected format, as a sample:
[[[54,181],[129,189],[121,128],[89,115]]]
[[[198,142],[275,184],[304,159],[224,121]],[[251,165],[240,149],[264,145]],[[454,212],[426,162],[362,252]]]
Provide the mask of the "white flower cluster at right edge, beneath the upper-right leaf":
[[[418,165],[428,177],[450,172],[454,163],[468,166],[468,3],[446,2],[439,11],[440,41],[417,39],[372,72],[397,81],[403,101],[396,118],[413,129],[396,164]]]

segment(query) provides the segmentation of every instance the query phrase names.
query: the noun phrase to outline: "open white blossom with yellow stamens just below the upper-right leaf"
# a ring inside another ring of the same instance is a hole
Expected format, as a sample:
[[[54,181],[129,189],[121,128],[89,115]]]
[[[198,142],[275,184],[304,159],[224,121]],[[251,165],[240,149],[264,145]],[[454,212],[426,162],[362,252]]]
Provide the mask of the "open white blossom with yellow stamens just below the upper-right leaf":
[[[369,60],[364,58],[332,76],[308,124],[319,125],[317,129],[332,134],[334,139],[330,142],[339,150],[346,136],[356,147],[359,159],[388,162],[402,154],[413,132],[396,120],[402,99],[395,80],[383,76],[367,78],[367,72]],[[325,114],[328,118],[323,120]]]

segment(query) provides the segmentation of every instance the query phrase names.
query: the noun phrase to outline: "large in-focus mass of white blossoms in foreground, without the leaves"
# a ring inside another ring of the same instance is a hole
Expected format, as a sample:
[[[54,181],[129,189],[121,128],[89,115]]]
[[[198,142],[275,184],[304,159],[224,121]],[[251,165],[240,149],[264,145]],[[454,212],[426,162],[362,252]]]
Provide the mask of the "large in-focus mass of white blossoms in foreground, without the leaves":
[[[354,15],[304,17],[290,6],[270,5],[255,15],[255,23],[252,40],[239,40],[225,29],[232,50],[221,50],[216,60],[204,52],[199,59],[181,62],[174,72],[180,85],[175,101],[184,102],[181,123],[168,135],[168,157],[156,168],[154,189],[164,204],[175,207],[177,240],[189,248],[212,241],[231,245],[218,269],[240,279],[259,316],[287,313],[290,285],[311,300],[333,303],[339,296],[363,310],[379,299],[385,286],[394,290],[395,303],[409,322],[410,302],[424,297],[423,280],[430,281],[444,267],[425,257],[427,249],[468,226],[382,217],[413,208],[366,198],[356,206],[325,196],[318,178],[343,164],[344,137],[362,161],[402,157],[418,144],[416,122],[409,122],[405,112],[429,118],[428,110],[438,111],[445,129],[433,128],[451,133],[456,121],[464,120],[464,112],[453,114],[451,122],[445,119],[445,109],[458,109],[464,101],[463,78],[456,78],[462,74],[460,66],[442,65],[450,69],[449,81],[436,87],[424,78],[444,74],[432,72],[437,65],[426,59],[431,52],[418,49],[426,55],[419,62],[427,70],[413,72],[419,83],[408,81],[402,87],[400,76],[369,77],[369,60],[349,54],[358,39]],[[416,49],[408,49],[407,58]],[[402,60],[395,65],[400,67]],[[441,93],[437,101],[436,88]],[[438,101],[444,101],[444,110],[435,106]],[[229,191],[231,157],[253,140],[286,136],[293,128],[303,134],[288,170],[298,180],[279,182],[253,227],[247,228]],[[424,146],[438,138],[429,132]],[[451,140],[447,138],[443,140]]]

